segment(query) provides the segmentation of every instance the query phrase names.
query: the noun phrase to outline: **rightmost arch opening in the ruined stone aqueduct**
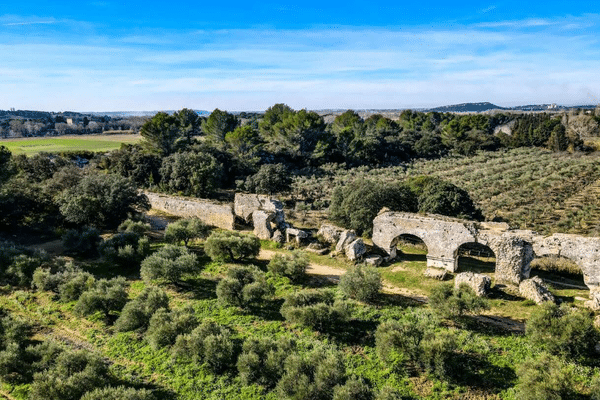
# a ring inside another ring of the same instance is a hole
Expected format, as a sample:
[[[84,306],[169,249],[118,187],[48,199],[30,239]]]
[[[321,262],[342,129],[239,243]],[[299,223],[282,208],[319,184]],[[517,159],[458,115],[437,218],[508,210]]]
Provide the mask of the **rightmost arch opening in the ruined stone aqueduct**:
[[[557,289],[589,291],[583,281],[581,267],[566,257],[558,255],[536,257],[531,262],[529,275],[531,277],[539,276]]]

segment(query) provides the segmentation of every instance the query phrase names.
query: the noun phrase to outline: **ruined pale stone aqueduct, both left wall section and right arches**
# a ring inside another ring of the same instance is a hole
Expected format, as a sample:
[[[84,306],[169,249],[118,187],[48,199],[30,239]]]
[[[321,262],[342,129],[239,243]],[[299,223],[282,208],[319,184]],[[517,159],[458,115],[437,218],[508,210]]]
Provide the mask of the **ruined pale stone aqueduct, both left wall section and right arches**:
[[[283,231],[296,239],[304,233],[285,223],[283,205],[268,196],[236,194],[231,203],[182,198],[146,192],[152,207],[182,217],[198,217],[207,224],[235,229],[236,217],[254,225],[261,238]],[[496,282],[518,285],[529,278],[535,256],[557,255],[574,261],[583,272],[590,297],[600,308],[600,238],[569,234],[544,237],[532,231],[509,229],[505,223],[475,222],[441,215],[383,211],[373,221],[373,244],[395,257],[403,235],[421,239],[427,246],[427,266],[455,272],[459,249],[468,243],[489,247],[496,256]],[[305,237],[305,236],[302,236]]]

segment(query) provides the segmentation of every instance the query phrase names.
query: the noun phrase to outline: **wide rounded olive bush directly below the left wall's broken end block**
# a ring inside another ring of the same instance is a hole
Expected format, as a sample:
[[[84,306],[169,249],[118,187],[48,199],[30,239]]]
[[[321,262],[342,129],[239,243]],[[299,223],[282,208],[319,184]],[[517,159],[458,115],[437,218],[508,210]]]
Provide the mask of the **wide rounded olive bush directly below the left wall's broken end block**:
[[[254,235],[215,231],[206,239],[204,250],[216,261],[240,261],[258,256],[260,240]]]

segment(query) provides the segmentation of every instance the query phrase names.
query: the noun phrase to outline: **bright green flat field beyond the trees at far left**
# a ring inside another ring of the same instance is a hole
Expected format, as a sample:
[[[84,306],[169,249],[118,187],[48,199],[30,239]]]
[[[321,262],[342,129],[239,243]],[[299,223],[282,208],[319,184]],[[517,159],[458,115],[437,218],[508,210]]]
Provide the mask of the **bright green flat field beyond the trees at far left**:
[[[137,143],[140,135],[81,135],[22,139],[1,139],[0,146],[13,154],[34,155],[40,152],[60,153],[71,150],[105,152],[116,150],[121,143]]]

